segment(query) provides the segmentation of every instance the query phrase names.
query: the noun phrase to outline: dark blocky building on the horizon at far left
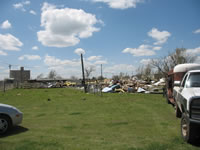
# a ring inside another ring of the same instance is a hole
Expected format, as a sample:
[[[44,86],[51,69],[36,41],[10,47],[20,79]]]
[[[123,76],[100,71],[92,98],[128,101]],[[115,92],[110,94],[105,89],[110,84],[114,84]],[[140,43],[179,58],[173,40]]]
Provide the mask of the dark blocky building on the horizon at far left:
[[[15,81],[23,83],[24,81],[30,80],[31,71],[24,70],[24,67],[21,67],[20,70],[10,70],[10,78],[14,78]]]

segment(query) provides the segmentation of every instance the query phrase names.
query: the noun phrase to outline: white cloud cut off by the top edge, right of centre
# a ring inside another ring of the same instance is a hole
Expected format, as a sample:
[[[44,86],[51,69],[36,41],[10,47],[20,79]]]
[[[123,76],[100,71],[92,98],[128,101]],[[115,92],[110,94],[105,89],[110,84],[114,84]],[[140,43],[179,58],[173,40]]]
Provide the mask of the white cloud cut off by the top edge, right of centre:
[[[136,8],[137,3],[143,2],[143,0],[92,0],[93,2],[103,2],[114,9],[127,9]]]

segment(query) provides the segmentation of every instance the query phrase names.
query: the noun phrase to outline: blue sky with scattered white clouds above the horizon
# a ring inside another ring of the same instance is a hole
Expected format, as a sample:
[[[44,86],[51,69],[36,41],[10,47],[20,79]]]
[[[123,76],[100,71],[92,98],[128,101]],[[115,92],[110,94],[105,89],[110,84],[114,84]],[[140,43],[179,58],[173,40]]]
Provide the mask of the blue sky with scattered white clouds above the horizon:
[[[200,63],[199,0],[0,0],[0,79],[8,66],[81,76],[135,74],[139,65],[177,47]]]

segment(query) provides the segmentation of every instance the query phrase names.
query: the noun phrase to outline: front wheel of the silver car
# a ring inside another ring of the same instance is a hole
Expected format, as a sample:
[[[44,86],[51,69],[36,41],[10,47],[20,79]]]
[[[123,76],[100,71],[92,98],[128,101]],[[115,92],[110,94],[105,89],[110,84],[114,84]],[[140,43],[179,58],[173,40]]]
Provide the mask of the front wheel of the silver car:
[[[4,134],[11,128],[11,120],[7,116],[0,115],[0,135]]]

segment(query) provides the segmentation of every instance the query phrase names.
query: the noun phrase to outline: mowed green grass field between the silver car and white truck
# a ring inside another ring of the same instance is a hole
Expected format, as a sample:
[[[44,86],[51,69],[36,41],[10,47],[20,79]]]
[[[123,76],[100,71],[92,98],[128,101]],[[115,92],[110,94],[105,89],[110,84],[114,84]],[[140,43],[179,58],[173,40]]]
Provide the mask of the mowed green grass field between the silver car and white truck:
[[[180,120],[162,95],[84,94],[74,89],[14,89],[0,103],[23,123],[0,138],[0,150],[189,150]]]

